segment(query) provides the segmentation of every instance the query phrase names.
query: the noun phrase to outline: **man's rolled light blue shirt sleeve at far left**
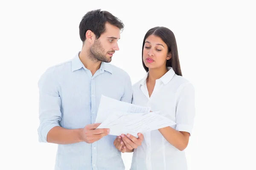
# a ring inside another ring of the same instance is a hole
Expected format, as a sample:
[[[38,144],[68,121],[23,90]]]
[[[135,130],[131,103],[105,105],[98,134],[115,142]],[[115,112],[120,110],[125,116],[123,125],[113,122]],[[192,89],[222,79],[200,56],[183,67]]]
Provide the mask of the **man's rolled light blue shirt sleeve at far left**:
[[[47,142],[47,134],[52,127],[60,126],[61,98],[58,84],[52,71],[47,70],[38,81],[39,88],[39,121],[38,140]]]

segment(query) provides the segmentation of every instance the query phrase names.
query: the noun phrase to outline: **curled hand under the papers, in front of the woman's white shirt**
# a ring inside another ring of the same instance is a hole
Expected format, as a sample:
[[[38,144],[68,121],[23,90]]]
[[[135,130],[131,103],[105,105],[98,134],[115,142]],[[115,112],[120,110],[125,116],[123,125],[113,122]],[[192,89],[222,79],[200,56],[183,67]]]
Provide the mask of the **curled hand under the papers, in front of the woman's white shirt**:
[[[129,150],[136,149],[138,146],[141,145],[141,143],[144,140],[144,136],[142,133],[138,133],[138,136],[139,136],[138,138],[136,138],[130,134],[127,134],[127,135],[122,134],[121,136],[122,136],[122,140],[123,140],[125,146]]]

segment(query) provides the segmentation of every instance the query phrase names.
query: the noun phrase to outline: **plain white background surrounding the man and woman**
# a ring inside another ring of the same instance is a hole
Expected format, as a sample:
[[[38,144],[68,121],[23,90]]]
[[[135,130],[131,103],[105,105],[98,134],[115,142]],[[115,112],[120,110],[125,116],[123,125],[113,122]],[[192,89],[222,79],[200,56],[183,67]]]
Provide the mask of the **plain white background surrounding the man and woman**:
[[[145,74],[146,31],[166,26],[174,32],[183,77],[196,90],[195,126],[186,148],[189,170],[256,170],[253,1],[68,2],[0,2],[1,170],[54,169],[57,145],[38,142],[37,82],[48,67],[81,50],[79,23],[97,8],[125,24],[111,63],[127,71],[132,83]],[[122,157],[128,170],[131,154]]]

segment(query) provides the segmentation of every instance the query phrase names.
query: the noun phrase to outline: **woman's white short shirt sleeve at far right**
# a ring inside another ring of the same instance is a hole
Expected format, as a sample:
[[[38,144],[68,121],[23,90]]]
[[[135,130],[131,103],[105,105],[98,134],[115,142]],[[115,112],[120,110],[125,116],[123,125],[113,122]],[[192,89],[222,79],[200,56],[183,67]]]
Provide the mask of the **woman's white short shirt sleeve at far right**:
[[[192,133],[195,118],[195,89],[186,83],[177,91],[176,130]]]

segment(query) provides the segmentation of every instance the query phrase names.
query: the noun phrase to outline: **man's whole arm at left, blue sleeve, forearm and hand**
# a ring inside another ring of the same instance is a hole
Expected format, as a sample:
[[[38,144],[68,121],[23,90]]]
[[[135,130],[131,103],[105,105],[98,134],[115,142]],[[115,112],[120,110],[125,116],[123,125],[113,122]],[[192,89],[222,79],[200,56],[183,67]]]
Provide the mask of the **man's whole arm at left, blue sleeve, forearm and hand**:
[[[93,143],[108,135],[108,129],[96,129],[100,124],[87,125],[81,129],[65,129],[61,121],[61,98],[58,83],[51,69],[47,70],[38,82],[39,87],[39,142],[73,144]]]

